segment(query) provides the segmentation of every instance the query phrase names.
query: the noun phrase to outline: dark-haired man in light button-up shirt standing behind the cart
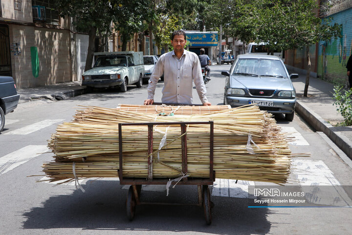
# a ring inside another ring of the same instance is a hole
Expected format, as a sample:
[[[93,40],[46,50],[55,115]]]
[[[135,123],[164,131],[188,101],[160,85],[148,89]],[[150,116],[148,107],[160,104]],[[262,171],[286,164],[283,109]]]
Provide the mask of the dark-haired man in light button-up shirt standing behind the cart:
[[[211,105],[206,98],[206,89],[201,73],[200,62],[196,53],[184,49],[186,33],[176,30],[171,37],[173,51],[160,56],[149,79],[148,99],[145,105],[154,103],[155,87],[164,74],[164,87],[161,102],[192,104],[193,82],[203,105]]]

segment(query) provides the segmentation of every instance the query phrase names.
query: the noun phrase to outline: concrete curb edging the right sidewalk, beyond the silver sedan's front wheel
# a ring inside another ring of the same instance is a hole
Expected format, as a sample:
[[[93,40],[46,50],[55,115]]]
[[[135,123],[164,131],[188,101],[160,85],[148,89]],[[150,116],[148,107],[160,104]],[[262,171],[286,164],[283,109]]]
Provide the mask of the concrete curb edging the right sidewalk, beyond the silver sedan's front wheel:
[[[329,137],[350,159],[352,159],[352,141],[341,132],[331,130],[333,126],[311,110],[302,101],[296,102],[295,111],[312,126],[315,131],[321,131]]]

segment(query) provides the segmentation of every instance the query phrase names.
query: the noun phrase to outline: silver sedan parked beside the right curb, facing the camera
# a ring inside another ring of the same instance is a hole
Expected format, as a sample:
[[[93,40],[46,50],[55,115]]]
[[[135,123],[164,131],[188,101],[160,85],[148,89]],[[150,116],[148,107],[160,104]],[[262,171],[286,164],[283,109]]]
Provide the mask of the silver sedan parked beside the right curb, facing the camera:
[[[273,55],[244,54],[236,58],[226,76],[224,104],[239,107],[257,103],[269,113],[285,114],[292,121],[296,106],[296,91],[283,61]]]

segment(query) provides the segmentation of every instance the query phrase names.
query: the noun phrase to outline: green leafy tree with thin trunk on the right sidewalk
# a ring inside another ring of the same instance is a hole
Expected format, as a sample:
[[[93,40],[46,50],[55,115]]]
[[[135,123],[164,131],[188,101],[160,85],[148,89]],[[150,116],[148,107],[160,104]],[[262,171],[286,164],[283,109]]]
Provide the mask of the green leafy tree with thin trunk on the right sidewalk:
[[[236,35],[244,43],[265,42],[271,51],[306,48],[308,70],[304,95],[307,96],[310,73],[309,46],[341,35],[341,25],[331,24],[331,19],[322,22],[317,16],[316,2],[215,0],[211,10],[208,10],[209,21],[223,24],[225,34]],[[327,6],[323,8],[328,9]]]

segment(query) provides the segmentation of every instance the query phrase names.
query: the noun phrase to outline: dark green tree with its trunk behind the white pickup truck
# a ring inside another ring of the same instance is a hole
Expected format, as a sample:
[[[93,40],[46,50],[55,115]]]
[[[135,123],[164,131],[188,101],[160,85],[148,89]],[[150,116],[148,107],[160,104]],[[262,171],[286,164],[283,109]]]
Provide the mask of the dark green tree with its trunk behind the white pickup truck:
[[[122,32],[127,42],[134,32],[142,27],[148,9],[148,0],[56,0],[56,8],[62,17],[73,17],[79,31],[88,32],[88,54],[85,70],[91,68],[95,48],[95,37],[111,33],[111,22]]]

